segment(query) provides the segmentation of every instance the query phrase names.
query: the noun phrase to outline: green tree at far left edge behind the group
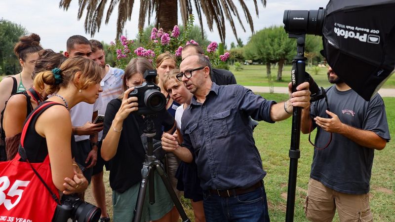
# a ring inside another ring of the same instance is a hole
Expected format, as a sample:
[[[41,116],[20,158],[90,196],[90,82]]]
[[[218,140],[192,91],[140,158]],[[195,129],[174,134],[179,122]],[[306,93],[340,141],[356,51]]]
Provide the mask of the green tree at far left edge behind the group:
[[[19,37],[27,33],[21,25],[0,19],[0,74],[20,72],[19,62],[13,49]]]

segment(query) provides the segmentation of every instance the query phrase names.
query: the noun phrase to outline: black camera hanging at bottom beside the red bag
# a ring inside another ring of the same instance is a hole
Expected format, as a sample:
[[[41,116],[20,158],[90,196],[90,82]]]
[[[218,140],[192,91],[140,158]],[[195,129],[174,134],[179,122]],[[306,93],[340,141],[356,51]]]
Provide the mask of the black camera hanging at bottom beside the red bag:
[[[100,220],[100,208],[81,200],[76,194],[63,195],[53,216],[53,222],[67,222],[68,219],[78,222],[96,222]]]

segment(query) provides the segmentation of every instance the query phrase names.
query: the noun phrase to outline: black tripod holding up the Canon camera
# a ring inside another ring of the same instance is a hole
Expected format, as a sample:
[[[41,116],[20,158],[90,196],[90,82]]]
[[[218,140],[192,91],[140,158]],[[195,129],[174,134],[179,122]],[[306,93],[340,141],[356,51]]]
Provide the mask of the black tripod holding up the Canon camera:
[[[180,201],[175,194],[173,187],[170,184],[170,181],[167,177],[167,174],[164,171],[163,164],[156,158],[154,155],[154,147],[153,147],[153,137],[156,135],[156,130],[154,126],[154,122],[152,118],[155,115],[147,115],[144,118],[144,126],[143,130],[144,135],[147,136],[147,153],[145,155],[145,161],[143,163],[143,168],[141,169],[142,180],[140,183],[139,194],[137,196],[136,208],[134,209],[134,222],[141,221],[141,215],[143,212],[144,206],[144,198],[147,191],[147,180],[149,183],[149,195],[150,195],[150,204],[155,203],[155,185],[154,185],[154,170],[158,171],[160,178],[163,181],[163,184],[166,186],[167,192],[170,194],[171,199],[173,200],[174,205],[176,206],[181,219],[183,222],[190,222],[187,214]]]

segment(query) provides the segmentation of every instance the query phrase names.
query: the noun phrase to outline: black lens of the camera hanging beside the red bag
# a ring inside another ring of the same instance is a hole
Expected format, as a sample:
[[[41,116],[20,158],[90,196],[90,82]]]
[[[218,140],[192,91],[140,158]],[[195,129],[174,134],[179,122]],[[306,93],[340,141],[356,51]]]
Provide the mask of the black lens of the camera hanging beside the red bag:
[[[96,222],[100,220],[100,208],[90,203],[78,201],[74,206],[74,210],[74,219],[78,222]]]

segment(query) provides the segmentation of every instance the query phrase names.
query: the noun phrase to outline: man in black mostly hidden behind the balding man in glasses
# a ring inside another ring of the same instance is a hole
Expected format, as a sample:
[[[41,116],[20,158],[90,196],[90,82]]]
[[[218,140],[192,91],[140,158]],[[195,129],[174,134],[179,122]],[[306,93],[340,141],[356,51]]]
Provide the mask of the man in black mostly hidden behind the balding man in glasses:
[[[182,48],[181,59],[184,60],[191,55],[204,55],[203,49],[197,44],[187,44]],[[235,75],[228,70],[212,68],[210,72],[211,81],[217,85],[237,84]]]

